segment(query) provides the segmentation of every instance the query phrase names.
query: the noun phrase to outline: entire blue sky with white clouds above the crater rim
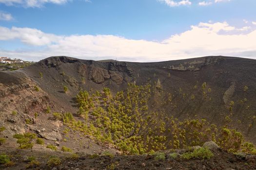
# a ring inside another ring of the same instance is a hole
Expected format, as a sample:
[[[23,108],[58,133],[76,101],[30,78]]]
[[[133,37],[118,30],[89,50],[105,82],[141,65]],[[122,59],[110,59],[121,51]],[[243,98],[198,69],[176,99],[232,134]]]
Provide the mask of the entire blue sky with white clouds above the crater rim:
[[[254,58],[255,8],[256,0],[0,0],[0,56]]]

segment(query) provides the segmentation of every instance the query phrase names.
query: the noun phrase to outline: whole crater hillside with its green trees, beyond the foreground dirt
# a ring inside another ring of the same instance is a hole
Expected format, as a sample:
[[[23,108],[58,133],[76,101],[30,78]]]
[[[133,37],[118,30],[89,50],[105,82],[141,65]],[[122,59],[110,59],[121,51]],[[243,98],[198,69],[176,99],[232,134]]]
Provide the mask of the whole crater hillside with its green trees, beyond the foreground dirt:
[[[255,89],[251,59],[50,57],[0,72],[0,126],[8,136],[3,147],[17,145],[14,134],[33,132],[48,144],[88,154],[152,153],[209,140],[237,152],[245,141],[256,144]]]

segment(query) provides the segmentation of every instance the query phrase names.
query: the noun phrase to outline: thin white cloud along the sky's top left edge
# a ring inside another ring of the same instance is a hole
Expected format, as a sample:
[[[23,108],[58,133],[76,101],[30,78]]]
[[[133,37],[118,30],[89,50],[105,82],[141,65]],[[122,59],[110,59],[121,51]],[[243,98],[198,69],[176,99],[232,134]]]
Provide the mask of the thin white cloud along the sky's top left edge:
[[[42,7],[45,3],[63,4],[69,0],[0,0],[5,5],[21,5],[23,7]]]

